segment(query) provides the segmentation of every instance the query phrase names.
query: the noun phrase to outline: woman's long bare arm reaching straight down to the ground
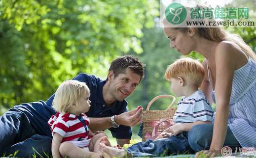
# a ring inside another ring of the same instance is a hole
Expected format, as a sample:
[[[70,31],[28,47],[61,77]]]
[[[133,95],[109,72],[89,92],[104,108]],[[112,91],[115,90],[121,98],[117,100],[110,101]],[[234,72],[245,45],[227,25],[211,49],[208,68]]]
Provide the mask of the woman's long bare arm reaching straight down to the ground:
[[[209,150],[210,156],[220,153],[224,144],[227,130],[227,119],[229,115],[229,101],[232,89],[232,81],[236,62],[229,43],[220,43],[216,48],[216,117],[214,122],[213,138]],[[231,56],[233,56],[231,58]]]

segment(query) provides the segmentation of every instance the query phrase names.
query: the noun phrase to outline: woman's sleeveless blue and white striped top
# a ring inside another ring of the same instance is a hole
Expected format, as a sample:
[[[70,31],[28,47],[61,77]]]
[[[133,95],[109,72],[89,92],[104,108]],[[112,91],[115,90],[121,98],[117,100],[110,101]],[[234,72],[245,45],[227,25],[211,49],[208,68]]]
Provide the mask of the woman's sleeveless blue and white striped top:
[[[212,96],[215,102],[214,91]],[[252,58],[234,72],[227,125],[242,147],[256,147],[256,62]]]

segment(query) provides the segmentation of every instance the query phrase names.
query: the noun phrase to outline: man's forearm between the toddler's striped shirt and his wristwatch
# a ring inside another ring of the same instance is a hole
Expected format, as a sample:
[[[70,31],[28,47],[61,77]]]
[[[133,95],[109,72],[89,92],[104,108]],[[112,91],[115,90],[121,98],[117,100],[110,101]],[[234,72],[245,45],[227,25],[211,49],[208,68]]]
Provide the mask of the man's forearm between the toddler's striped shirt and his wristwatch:
[[[92,132],[104,131],[109,129],[110,127],[111,127],[110,117],[102,117],[102,118],[90,117],[89,128],[92,130]]]

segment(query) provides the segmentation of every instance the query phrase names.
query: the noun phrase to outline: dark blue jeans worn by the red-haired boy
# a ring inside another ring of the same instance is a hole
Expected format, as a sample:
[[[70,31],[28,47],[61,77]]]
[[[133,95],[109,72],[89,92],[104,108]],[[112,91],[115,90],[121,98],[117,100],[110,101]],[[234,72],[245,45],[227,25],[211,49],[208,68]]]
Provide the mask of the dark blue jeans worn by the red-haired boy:
[[[164,157],[177,154],[194,153],[187,141],[187,132],[177,136],[161,139],[147,139],[127,148],[128,156],[132,157]]]

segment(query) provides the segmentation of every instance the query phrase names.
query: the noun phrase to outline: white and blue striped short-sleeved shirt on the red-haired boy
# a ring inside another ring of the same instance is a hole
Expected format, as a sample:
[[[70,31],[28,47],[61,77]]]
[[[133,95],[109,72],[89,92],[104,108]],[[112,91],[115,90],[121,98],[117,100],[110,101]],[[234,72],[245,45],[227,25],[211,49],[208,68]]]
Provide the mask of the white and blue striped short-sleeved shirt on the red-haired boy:
[[[181,99],[174,114],[175,123],[212,121],[213,109],[202,91],[198,90],[189,97]]]

